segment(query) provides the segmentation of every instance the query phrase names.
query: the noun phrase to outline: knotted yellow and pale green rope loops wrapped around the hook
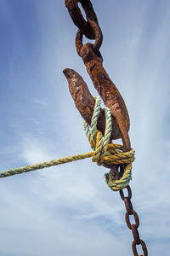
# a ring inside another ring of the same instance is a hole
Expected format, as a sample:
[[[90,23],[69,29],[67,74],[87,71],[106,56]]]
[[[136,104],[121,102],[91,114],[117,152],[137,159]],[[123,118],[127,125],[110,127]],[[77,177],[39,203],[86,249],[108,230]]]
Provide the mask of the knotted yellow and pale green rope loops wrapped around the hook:
[[[84,121],[84,131],[88,137],[91,147],[94,149],[92,160],[97,164],[103,165],[124,165],[125,171],[123,176],[116,181],[112,180],[110,173],[105,174],[105,181],[109,187],[114,190],[121,190],[126,188],[132,179],[132,162],[134,160],[134,150],[131,148],[129,152],[122,152],[122,145],[110,143],[111,142],[111,111],[109,108],[105,109],[105,135],[103,137],[101,131],[97,130],[97,121],[99,118],[101,99],[96,98],[94,113],[91,121],[91,129],[86,121]]]

